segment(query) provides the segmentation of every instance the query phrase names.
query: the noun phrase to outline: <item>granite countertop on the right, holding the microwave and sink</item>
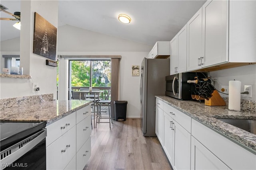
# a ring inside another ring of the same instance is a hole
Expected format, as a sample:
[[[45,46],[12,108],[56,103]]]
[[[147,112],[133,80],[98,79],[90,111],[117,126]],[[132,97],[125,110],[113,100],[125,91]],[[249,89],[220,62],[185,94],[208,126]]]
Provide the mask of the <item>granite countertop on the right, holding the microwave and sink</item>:
[[[183,101],[168,96],[155,96],[164,103],[210,127],[214,131],[256,153],[256,135],[216,118],[256,120],[256,111],[231,111],[228,106],[206,106],[198,101]]]

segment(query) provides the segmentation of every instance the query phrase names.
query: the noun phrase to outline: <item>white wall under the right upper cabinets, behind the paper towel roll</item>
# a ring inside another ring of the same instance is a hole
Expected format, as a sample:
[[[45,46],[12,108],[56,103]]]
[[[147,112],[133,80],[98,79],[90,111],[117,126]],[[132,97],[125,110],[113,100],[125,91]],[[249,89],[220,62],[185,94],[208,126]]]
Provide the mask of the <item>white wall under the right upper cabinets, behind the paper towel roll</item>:
[[[220,90],[221,86],[228,86],[230,80],[239,80],[242,82],[241,92],[244,92],[244,85],[252,85],[252,98],[241,94],[241,99],[256,101],[256,64],[240,66],[225,70],[210,72],[215,81],[215,87]],[[220,94],[222,97],[228,97],[226,94]]]

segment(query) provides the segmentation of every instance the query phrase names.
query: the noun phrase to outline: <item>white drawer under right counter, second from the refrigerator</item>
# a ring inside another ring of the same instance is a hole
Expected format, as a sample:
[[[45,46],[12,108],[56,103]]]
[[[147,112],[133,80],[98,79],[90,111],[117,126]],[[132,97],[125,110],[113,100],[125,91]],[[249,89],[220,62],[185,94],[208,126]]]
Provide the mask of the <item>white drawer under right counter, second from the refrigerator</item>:
[[[191,133],[191,117],[164,103],[164,111],[179,123],[186,131]]]

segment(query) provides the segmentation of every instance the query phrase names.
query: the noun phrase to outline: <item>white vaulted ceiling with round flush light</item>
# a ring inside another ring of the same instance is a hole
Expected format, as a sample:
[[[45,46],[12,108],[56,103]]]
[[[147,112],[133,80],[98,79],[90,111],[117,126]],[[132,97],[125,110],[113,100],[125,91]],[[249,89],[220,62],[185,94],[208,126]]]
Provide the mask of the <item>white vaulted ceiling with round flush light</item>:
[[[170,41],[199,10],[205,0],[59,0],[58,26],[72,25],[147,45]],[[8,12],[20,11],[20,0],[1,0]],[[1,18],[10,18],[1,12]],[[127,14],[130,24],[118,21]],[[22,18],[21,18],[22,20]],[[20,36],[12,25],[0,21],[0,40]],[[22,22],[21,22],[22,23]]]

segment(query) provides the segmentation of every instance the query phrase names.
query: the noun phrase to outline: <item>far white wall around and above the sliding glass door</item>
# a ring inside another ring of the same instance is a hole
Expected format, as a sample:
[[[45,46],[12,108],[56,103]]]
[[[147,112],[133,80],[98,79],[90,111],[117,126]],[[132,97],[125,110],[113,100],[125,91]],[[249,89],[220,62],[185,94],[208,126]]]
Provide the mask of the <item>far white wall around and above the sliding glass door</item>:
[[[58,55],[121,55],[120,60],[120,98],[128,101],[127,117],[140,117],[139,76],[132,76],[132,65],[139,65],[152,47],[141,43],[111,37],[101,33],[84,30],[70,25],[64,25],[58,29]],[[64,61],[61,61],[64,63]],[[60,64],[61,64],[60,63]],[[63,70],[64,69],[64,70]],[[59,74],[65,74],[65,66]],[[66,86],[66,80],[60,82]],[[66,91],[60,88],[62,96],[66,97]],[[63,91],[64,90],[64,91]],[[65,95],[63,95],[65,94]],[[61,98],[63,99],[63,98]]]

